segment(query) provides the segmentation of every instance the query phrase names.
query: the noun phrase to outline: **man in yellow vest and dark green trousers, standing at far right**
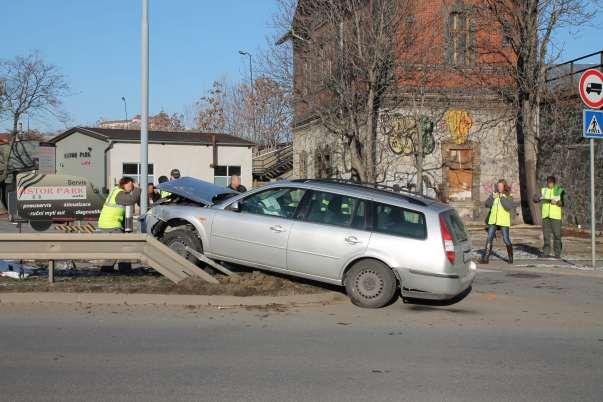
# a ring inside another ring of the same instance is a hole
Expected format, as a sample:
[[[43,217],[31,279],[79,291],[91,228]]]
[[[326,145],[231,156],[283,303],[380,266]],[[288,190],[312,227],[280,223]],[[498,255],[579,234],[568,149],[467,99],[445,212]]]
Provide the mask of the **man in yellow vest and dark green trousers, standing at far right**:
[[[544,257],[551,256],[551,237],[553,237],[553,251],[556,258],[561,258],[561,222],[563,219],[563,206],[565,203],[565,189],[557,185],[555,176],[546,179],[546,187],[540,189],[540,194],[534,196],[534,202],[541,204],[542,234]]]

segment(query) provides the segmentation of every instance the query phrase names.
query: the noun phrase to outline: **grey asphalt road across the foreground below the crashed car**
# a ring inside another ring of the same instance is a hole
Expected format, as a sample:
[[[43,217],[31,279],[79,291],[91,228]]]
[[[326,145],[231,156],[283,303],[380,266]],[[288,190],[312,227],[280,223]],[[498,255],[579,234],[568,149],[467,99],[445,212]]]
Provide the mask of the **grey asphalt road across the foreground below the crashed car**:
[[[601,276],[475,288],[381,310],[0,304],[0,400],[602,399]]]

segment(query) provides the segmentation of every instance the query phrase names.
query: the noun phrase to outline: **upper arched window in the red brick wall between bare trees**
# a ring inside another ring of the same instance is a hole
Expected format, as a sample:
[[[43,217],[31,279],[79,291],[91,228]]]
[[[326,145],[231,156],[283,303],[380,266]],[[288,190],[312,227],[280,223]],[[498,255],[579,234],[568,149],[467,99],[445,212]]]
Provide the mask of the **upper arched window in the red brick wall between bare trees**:
[[[455,66],[475,63],[475,23],[465,10],[454,10],[448,18],[448,62]]]

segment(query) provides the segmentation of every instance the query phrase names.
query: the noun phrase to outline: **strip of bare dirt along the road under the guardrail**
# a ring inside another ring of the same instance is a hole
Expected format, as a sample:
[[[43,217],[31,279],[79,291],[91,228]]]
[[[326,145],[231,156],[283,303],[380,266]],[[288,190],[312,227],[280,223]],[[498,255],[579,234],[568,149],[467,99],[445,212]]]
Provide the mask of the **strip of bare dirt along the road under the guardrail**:
[[[65,276],[64,276],[65,275]],[[161,293],[183,295],[290,296],[329,291],[318,284],[290,280],[262,272],[241,272],[237,277],[220,276],[220,284],[188,279],[178,284],[146,270],[133,270],[129,275],[100,272],[58,273],[55,283],[46,276],[24,280],[0,277],[0,292],[80,292],[80,293]]]

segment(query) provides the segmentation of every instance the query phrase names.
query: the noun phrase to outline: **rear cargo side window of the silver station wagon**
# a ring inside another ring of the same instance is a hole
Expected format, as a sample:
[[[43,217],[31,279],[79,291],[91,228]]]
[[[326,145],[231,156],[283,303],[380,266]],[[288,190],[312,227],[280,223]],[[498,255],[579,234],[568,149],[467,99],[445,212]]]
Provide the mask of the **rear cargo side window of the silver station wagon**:
[[[427,238],[425,215],[392,205],[375,203],[374,230],[412,239]]]

